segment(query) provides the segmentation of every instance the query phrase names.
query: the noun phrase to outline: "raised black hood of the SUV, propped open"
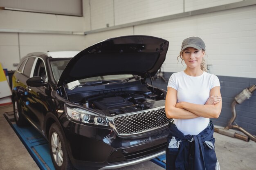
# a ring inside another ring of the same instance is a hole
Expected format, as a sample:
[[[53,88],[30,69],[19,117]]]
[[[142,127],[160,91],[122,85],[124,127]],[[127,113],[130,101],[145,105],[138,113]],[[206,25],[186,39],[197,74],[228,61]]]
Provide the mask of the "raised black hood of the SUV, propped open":
[[[155,75],[165,60],[169,42],[146,36],[129,35],[104,40],[74,56],[57,86],[102,75]]]

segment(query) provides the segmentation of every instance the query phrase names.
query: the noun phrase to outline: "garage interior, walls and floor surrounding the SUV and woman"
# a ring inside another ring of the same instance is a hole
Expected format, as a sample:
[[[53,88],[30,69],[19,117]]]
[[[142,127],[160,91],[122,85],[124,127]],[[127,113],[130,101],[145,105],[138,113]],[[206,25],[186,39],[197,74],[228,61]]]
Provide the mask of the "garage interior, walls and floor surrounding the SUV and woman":
[[[255,0],[0,0],[0,64],[9,82],[0,92],[12,88],[11,76],[28,53],[82,51],[124,35],[150,35],[169,41],[166,60],[153,77],[153,84],[163,89],[172,73],[185,68],[177,63],[182,40],[189,36],[204,40],[208,72],[218,76],[221,86],[222,112],[218,119],[211,119],[217,129],[225,128],[231,120],[235,97],[256,84]],[[256,93],[252,91],[235,110],[234,123],[255,137]],[[4,117],[12,112],[11,97],[1,96],[0,169],[40,169]],[[229,131],[245,136],[241,130]],[[214,133],[220,168],[254,170],[255,141],[220,133]],[[119,168],[130,169],[164,168],[152,161]]]

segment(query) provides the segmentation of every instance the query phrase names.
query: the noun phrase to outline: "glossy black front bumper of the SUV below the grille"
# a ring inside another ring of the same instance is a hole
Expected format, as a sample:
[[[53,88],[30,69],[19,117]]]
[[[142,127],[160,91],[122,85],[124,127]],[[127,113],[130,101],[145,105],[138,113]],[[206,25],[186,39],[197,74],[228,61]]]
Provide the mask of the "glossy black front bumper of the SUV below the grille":
[[[103,170],[133,165],[165,153],[167,127],[119,137],[109,127],[77,124],[62,117],[70,160],[77,169]]]

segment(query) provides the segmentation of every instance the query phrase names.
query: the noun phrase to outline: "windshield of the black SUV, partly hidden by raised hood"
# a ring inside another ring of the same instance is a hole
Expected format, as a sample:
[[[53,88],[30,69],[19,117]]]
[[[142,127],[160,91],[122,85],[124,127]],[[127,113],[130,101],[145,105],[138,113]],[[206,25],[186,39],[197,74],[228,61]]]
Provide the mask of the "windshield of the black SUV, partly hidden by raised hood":
[[[61,73],[63,72],[65,66],[70,61],[70,59],[65,60],[52,60],[50,61],[52,67],[52,73],[54,75],[54,79],[58,82],[59,78],[61,77]],[[130,77],[134,77],[131,74],[125,75],[104,75],[104,76],[97,76],[97,77],[90,77],[85,79],[76,80],[74,82],[70,82],[67,84],[69,89],[74,88],[75,86],[79,86],[80,84],[85,84],[86,82],[95,82],[95,81],[109,81],[109,80],[124,80]]]

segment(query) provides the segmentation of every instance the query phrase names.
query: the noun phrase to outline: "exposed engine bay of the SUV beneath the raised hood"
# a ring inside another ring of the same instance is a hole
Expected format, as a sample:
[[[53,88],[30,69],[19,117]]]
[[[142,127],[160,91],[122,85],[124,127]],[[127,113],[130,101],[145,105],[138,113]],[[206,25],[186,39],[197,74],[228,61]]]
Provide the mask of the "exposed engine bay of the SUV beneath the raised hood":
[[[163,106],[164,97],[164,93],[160,90],[157,93],[122,91],[85,97],[82,102],[76,104],[114,116]]]

